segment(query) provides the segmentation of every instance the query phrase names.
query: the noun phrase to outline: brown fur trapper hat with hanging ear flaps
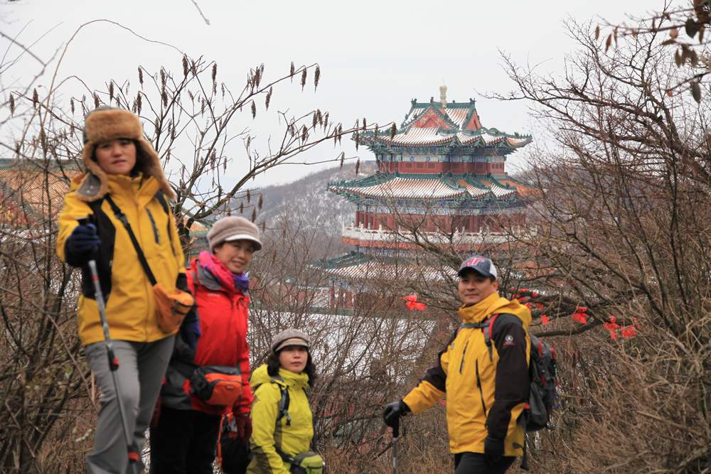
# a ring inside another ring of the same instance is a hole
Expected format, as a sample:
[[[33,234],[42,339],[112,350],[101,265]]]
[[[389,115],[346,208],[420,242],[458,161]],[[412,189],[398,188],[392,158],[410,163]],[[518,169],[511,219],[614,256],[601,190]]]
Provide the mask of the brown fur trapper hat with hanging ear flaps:
[[[106,173],[94,159],[97,144],[113,139],[132,139],[136,144],[136,169],[144,176],[158,180],[160,190],[169,199],[175,199],[173,188],[163,173],[158,153],[144,139],[143,127],[137,115],[114,107],[99,107],[87,114],[84,124],[84,150],[82,161],[88,173],[77,188],[77,197],[90,202],[103,198],[109,190]]]

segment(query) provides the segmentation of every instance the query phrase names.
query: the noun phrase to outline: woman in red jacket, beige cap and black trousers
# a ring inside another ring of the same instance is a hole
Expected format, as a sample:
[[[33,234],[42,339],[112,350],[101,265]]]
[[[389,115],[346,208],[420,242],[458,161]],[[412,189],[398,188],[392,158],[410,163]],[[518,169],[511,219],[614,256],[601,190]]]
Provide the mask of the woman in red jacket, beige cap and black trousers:
[[[161,390],[151,427],[154,474],[212,474],[220,418],[230,410],[244,443],[252,432],[245,270],[262,248],[259,229],[243,217],[224,217],[208,243],[210,252],[201,252],[186,271],[197,318],[183,322]]]

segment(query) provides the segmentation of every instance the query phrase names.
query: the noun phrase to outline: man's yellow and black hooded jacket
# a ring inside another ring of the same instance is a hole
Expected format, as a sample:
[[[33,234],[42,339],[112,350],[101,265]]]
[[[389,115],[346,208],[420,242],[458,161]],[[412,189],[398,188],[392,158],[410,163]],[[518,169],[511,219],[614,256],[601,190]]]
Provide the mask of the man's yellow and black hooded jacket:
[[[460,327],[438,364],[402,399],[418,414],[447,397],[447,428],[452,453],[483,453],[484,440],[504,440],[504,456],[523,455],[518,417],[528,401],[530,311],[498,293],[459,309],[463,323],[496,317],[487,347],[483,328]],[[491,351],[490,351],[491,350]]]

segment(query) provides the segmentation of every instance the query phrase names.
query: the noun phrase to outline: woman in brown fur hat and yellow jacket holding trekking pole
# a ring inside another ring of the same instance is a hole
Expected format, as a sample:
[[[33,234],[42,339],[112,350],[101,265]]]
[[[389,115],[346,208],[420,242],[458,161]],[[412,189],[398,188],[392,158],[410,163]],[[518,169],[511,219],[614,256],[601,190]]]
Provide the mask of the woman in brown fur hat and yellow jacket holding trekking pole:
[[[90,112],[85,122],[82,161],[87,173],[75,179],[65,196],[57,253],[64,262],[82,269],[79,336],[101,394],[87,470],[123,474],[130,457],[123,423],[132,438],[129,451],[140,453],[176,331],[164,332],[159,327],[153,285],[120,215],[132,228],[156,281],[169,291],[186,286],[183,251],[166,203],[175,194],[158,154],[143,137],[136,115],[108,107]],[[119,394],[109,370],[87,268],[92,259],[97,263],[109,335],[119,360],[114,372]],[[124,408],[124,421],[118,402]],[[140,463],[135,456],[133,460]]]

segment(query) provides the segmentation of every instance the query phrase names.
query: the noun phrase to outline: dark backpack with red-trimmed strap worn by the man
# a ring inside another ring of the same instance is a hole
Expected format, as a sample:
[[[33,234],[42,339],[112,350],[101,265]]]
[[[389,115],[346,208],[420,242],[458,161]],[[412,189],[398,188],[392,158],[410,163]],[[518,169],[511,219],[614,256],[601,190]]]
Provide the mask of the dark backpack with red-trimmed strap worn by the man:
[[[496,323],[498,314],[481,323],[464,323],[461,328],[481,328],[484,333],[484,342],[488,348],[489,359],[493,358],[491,352],[491,333]],[[521,320],[511,314],[515,321],[523,326]],[[553,411],[557,392],[555,389],[557,382],[557,372],[555,368],[555,348],[552,345],[540,340],[535,335],[528,333],[531,341],[530,357],[528,364],[528,379],[530,389],[528,403],[523,408],[523,413],[519,418],[520,424],[525,431],[539,431],[548,427],[550,415]]]

